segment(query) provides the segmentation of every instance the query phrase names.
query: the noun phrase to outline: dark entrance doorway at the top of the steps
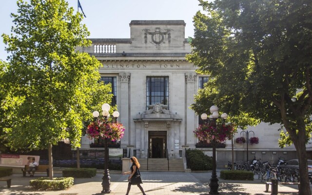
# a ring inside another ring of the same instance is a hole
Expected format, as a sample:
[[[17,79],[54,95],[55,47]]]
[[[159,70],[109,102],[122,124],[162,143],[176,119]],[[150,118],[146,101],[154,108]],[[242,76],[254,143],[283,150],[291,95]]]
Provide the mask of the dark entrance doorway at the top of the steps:
[[[167,132],[149,131],[148,132],[149,158],[167,157]]]

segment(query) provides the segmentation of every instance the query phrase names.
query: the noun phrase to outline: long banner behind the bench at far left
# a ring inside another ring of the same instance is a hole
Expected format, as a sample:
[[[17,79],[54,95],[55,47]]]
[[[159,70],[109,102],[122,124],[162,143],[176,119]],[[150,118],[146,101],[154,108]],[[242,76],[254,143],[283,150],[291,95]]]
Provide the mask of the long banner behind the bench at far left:
[[[24,167],[32,158],[35,158],[35,161],[39,164],[40,156],[1,154],[0,166]]]

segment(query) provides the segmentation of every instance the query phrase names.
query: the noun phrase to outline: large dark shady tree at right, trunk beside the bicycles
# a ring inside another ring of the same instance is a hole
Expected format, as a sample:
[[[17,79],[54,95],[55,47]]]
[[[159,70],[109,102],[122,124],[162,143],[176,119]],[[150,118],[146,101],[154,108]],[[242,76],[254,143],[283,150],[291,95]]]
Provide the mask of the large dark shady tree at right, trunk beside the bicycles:
[[[215,78],[219,97],[239,97],[242,112],[285,127],[289,137],[280,144],[286,138],[294,144],[299,194],[310,194],[312,1],[199,1],[208,14],[195,15],[188,59]]]

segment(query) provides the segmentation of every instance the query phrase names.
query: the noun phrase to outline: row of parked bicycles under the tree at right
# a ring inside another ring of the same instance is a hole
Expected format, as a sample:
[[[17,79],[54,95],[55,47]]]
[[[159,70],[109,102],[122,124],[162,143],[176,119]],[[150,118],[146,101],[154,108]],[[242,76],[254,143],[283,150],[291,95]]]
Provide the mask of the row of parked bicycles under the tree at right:
[[[286,160],[282,157],[279,157],[278,162],[276,164],[271,164],[269,161],[261,162],[261,159],[253,159],[252,161],[234,161],[234,170],[245,170],[245,171],[253,171],[254,175],[258,175],[258,178],[261,181],[263,180],[271,180],[271,179],[278,179],[280,182],[295,182],[299,181],[299,170],[298,166],[295,166],[289,163],[289,167],[286,166]],[[312,165],[312,162],[308,162],[309,165]],[[292,166],[293,165],[293,166]],[[310,167],[312,169],[312,166]],[[309,178],[312,183],[312,170],[309,168]],[[228,162],[228,170],[232,169],[232,162]]]

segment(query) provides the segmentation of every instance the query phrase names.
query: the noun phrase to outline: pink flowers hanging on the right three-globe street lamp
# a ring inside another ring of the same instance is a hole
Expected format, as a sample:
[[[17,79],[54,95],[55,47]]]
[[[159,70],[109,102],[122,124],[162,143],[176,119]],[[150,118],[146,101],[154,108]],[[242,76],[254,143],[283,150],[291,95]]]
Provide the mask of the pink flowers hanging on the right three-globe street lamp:
[[[215,139],[216,142],[232,139],[233,133],[233,124],[216,124],[215,122],[201,124],[194,131],[195,137],[199,140],[204,141]]]

